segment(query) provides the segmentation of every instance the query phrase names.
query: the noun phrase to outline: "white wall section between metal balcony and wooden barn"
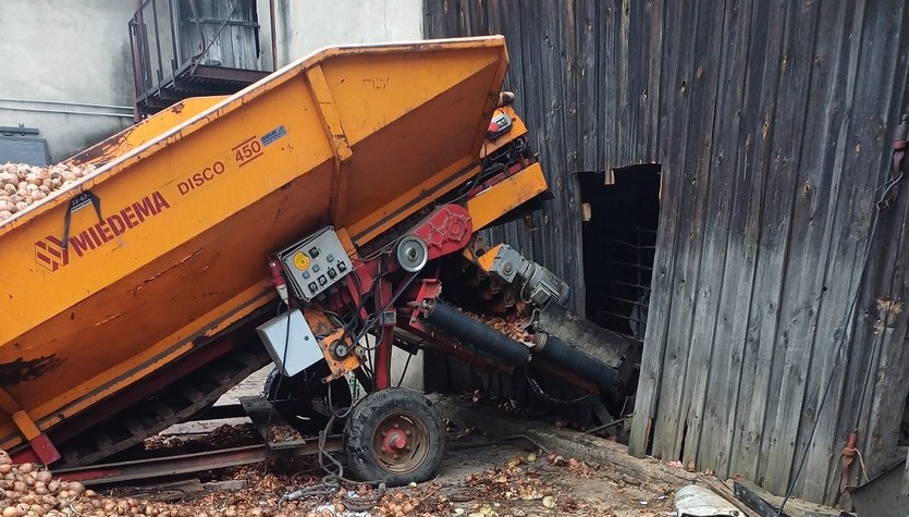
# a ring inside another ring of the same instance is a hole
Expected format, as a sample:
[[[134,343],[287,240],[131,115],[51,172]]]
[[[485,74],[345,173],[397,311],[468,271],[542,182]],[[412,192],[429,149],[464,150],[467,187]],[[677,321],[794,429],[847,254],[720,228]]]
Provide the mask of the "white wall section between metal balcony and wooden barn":
[[[422,0],[274,0],[278,65],[332,45],[422,39]],[[271,62],[269,1],[259,0],[262,62]]]

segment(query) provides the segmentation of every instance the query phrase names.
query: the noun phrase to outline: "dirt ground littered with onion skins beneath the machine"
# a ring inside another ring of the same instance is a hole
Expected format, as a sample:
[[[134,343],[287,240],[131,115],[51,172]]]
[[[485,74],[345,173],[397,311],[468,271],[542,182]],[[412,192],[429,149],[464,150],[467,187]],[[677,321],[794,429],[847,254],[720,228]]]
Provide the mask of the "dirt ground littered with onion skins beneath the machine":
[[[229,392],[219,404],[258,394],[267,374],[268,369],[255,373]],[[162,434],[170,443],[206,440],[205,433],[216,428],[218,433],[241,436],[241,441],[244,435],[255,436],[255,431],[249,432],[244,419],[185,423]],[[558,451],[546,454],[523,439],[492,441],[453,428],[450,429],[446,445],[435,479],[419,485],[389,489],[379,498],[376,490],[356,484],[323,485],[324,472],[315,458],[300,458],[211,472],[202,481],[233,480],[244,487],[242,490],[204,493],[173,504],[161,503],[158,509],[169,510],[172,515],[225,516],[673,515],[673,493],[667,485],[641,483],[605,466],[563,457]],[[281,501],[282,496],[295,490],[320,493],[293,502]],[[135,491],[121,489],[112,494],[128,496],[131,493]],[[153,491],[151,494],[153,496]],[[374,505],[370,505],[373,500]],[[364,504],[357,505],[358,502]],[[365,513],[354,509],[365,509]]]

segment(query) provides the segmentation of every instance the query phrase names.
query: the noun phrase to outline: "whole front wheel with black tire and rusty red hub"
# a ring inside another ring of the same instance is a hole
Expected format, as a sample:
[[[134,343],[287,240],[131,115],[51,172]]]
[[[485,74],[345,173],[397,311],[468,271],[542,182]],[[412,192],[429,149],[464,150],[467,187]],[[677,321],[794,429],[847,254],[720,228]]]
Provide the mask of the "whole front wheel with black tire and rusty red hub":
[[[351,470],[389,487],[430,479],[442,461],[445,438],[431,403],[420,393],[390,387],[354,406],[344,432]]]

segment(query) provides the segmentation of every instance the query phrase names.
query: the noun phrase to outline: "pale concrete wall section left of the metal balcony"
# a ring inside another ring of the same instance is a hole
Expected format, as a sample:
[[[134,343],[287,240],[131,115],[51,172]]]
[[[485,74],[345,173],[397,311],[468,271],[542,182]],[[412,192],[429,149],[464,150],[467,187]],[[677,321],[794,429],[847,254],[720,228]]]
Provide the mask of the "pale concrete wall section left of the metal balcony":
[[[131,125],[127,23],[134,7],[125,0],[0,1],[0,126],[39,128],[51,160],[60,161]]]

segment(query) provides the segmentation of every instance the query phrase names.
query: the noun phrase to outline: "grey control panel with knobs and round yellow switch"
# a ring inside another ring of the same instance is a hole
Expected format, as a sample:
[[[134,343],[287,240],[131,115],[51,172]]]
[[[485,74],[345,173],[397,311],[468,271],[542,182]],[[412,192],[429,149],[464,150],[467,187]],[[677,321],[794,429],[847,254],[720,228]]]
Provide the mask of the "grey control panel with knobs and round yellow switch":
[[[351,258],[331,226],[278,254],[297,297],[310,301],[353,271]]]

